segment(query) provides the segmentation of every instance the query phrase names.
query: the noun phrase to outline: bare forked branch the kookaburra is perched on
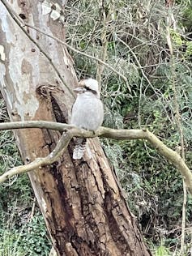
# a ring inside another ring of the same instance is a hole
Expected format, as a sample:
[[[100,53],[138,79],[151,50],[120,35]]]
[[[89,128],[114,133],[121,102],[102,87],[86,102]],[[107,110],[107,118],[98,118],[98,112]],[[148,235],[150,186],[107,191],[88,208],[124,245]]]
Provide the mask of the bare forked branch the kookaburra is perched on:
[[[0,176],[0,183],[6,181],[8,178],[14,176],[18,173],[27,173],[33,169],[41,168],[42,166],[53,164],[54,161],[58,160],[62,156],[63,151],[70,143],[70,139],[73,137],[82,138],[93,138],[93,137],[105,137],[110,139],[147,139],[157,151],[160,152],[167,160],[169,160],[181,173],[184,180],[186,181],[186,187],[192,194],[192,174],[185,161],[181,156],[173,151],[171,148],[167,147],[152,134],[149,130],[114,130],[105,127],[100,127],[95,132],[83,130],[58,122],[44,122],[44,121],[29,121],[29,122],[10,122],[0,124],[0,130],[9,129],[24,129],[24,128],[45,128],[52,130],[64,131],[61,139],[59,139],[55,149],[44,158],[36,158],[30,164],[17,166]]]

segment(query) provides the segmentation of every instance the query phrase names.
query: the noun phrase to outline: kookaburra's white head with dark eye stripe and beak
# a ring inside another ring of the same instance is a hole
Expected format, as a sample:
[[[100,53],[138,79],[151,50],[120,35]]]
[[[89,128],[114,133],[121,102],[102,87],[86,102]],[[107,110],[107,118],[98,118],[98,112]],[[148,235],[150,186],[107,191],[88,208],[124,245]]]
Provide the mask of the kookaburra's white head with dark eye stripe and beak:
[[[99,84],[96,79],[83,79],[79,81],[79,87],[74,89],[77,93],[92,92],[100,96]]]

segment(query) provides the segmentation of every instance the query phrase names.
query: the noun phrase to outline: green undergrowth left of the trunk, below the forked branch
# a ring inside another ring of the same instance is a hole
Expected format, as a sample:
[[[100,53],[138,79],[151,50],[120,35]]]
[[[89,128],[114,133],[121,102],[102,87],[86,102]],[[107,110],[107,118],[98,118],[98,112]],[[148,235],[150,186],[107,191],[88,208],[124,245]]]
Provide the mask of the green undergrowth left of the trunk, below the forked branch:
[[[40,211],[32,212],[32,189],[28,177],[19,176],[1,187],[0,256],[48,255],[50,241]]]

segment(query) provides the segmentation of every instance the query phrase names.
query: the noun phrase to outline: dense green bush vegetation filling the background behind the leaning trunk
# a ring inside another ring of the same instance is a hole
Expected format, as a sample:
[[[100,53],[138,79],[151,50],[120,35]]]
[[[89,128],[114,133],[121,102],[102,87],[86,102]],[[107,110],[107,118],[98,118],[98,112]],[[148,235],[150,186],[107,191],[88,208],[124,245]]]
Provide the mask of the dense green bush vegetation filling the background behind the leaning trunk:
[[[169,5],[170,4],[170,5]],[[171,7],[171,8],[170,8]],[[66,41],[101,58],[128,79],[91,58],[70,52],[79,79],[101,79],[105,124],[147,127],[192,164],[192,2],[68,1]],[[171,46],[168,37],[171,38]],[[1,101],[1,122],[6,111]],[[0,137],[1,172],[19,164],[11,132]],[[102,140],[126,191],[127,202],[155,255],[176,255],[181,240],[183,186],[168,161],[144,141]],[[0,255],[47,255],[49,239],[27,176],[0,186]],[[192,199],[187,198],[185,254],[191,250]],[[14,252],[14,254],[13,254]]]

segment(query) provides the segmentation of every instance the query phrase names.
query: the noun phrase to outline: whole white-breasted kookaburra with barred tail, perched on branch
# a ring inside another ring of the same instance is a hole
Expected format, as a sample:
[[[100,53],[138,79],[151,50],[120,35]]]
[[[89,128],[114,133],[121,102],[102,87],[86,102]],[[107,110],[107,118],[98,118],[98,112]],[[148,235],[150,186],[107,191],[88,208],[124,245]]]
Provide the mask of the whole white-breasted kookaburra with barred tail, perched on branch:
[[[74,90],[77,98],[72,108],[70,123],[86,130],[96,130],[104,119],[103,104],[100,100],[99,85],[95,79],[83,79]],[[73,152],[73,159],[81,159],[85,150],[86,139],[78,138]]]

